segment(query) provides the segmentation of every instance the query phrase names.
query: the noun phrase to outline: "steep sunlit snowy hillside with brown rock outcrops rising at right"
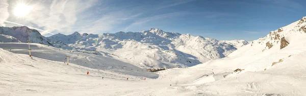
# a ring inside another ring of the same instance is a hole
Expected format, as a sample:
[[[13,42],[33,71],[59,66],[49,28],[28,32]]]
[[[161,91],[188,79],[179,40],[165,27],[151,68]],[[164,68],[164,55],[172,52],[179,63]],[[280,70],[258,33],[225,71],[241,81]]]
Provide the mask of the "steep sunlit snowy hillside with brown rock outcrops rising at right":
[[[228,57],[173,72],[175,84],[209,95],[305,95],[306,17]]]

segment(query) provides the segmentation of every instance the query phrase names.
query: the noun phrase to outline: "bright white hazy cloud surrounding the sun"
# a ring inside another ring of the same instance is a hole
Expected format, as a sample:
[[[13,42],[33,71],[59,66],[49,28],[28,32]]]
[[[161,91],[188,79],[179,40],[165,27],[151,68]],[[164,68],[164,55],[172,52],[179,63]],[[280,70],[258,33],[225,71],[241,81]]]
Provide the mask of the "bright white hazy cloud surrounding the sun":
[[[0,1],[1,2],[1,1]],[[6,1],[2,1],[6,2]],[[95,5],[97,0],[74,0],[74,1],[23,1],[28,6],[33,7],[30,14],[24,18],[17,18],[16,16],[11,15],[9,18],[3,18],[1,15],[2,21],[11,21],[10,23],[16,23],[20,25],[36,25],[37,27],[44,28],[43,30],[60,31],[60,32],[70,32],[73,29],[71,27],[78,20],[78,15],[85,11],[86,9]],[[1,3],[4,4],[4,3]],[[12,0],[6,2],[9,6],[6,8],[1,8],[1,12],[5,12],[8,9],[14,9],[18,4],[18,0]],[[4,11],[2,11],[4,10]],[[9,15],[13,13],[13,10],[9,10]],[[7,16],[6,16],[7,17]],[[0,22],[0,24],[2,24]],[[3,25],[3,24],[2,24]],[[5,25],[3,25],[5,26]],[[33,27],[32,27],[33,28]],[[45,34],[46,31],[43,31],[42,34]]]

